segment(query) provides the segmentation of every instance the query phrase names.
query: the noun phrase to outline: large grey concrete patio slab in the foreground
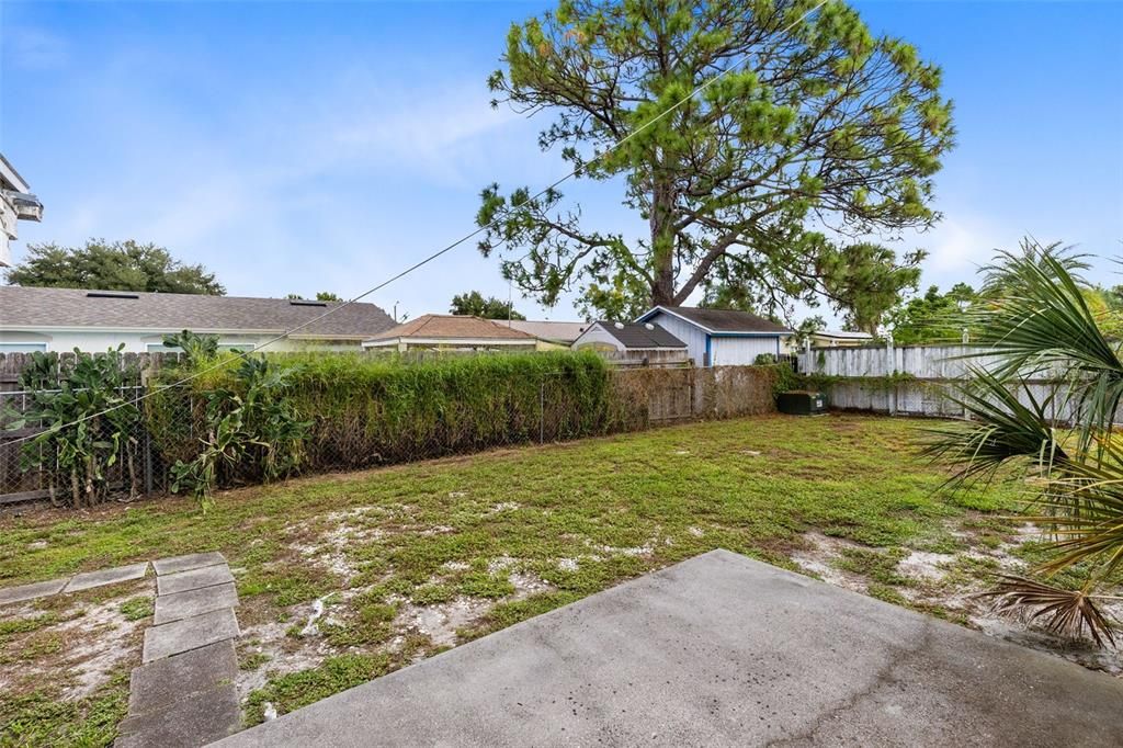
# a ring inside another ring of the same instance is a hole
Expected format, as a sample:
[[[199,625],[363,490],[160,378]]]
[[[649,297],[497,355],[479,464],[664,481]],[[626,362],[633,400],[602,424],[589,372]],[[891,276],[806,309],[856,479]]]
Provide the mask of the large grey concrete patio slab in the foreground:
[[[1123,682],[713,551],[219,745],[1117,746]]]

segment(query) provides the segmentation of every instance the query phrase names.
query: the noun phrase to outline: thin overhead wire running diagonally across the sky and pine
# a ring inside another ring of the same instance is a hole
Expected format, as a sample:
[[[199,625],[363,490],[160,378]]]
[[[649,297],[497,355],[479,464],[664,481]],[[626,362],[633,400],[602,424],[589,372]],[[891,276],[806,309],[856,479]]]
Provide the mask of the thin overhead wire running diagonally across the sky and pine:
[[[822,0],[821,2],[816,3],[811,10],[806,11],[805,13],[803,13],[802,16],[800,16],[797,19],[795,19],[793,22],[788,24],[783,29],[780,29],[778,31],[778,34],[784,34],[786,31],[792,30],[793,28],[795,28],[796,26],[798,26],[800,24],[802,24],[813,12],[815,12],[816,10],[819,10],[820,8],[822,8],[823,6],[825,6],[831,0]],[[647,120],[646,122],[643,122],[642,125],[640,125],[639,127],[637,127],[634,130],[632,130],[631,133],[629,133],[624,137],[620,138],[608,150],[605,150],[602,155],[594,157],[590,163],[595,163],[596,161],[603,158],[604,156],[606,156],[608,154],[612,153],[613,150],[615,150],[620,146],[624,145],[626,143],[628,143],[629,140],[631,140],[632,138],[634,138],[637,135],[643,133],[649,127],[651,127],[656,122],[660,121],[661,119],[664,119],[665,117],[667,117],[672,112],[678,111],[678,109],[681,109],[682,106],[685,104],[687,101],[692,101],[694,99],[694,97],[696,97],[699,93],[702,93],[703,91],[705,91],[706,89],[709,89],[711,85],[713,85],[714,83],[716,83],[719,80],[721,80],[722,77],[724,77],[725,75],[728,75],[732,71],[734,71],[734,70],[739,69],[741,65],[743,65],[749,60],[750,56],[751,56],[751,53],[747,53],[747,54],[742,55],[734,63],[732,63],[729,67],[725,67],[724,70],[722,70],[721,72],[719,72],[716,75],[714,75],[713,77],[709,79],[707,81],[705,81],[704,83],[702,83],[701,85],[699,85],[696,89],[694,89],[693,91],[691,91],[690,93],[687,93],[685,97],[683,97],[682,99],[679,99],[678,101],[676,101],[674,104],[672,104],[667,109],[663,110],[661,112],[659,112],[658,115],[656,115],[651,119]],[[535,200],[538,200],[539,198],[541,198],[542,195],[547,194],[548,192],[550,192],[555,188],[559,186],[560,184],[564,184],[565,182],[567,182],[570,179],[573,179],[574,176],[576,176],[578,174],[578,172],[581,172],[581,170],[582,170],[582,166],[578,166],[578,167],[574,168],[572,172],[569,172],[568,174],[566,174],[562,179],[553,182],[549,186],[542,188],[541,190],[539,190],[538,192],[536,192],[533,195],[530,195],[529,198],[526,198],[524,200],[522,200],[521,202],[519,202],[519,204],[517,204],[517,206],[512,204],[511,209],[514,210],[514,209],[518,209],[518,208],[521,208],[521,207],[526,206],[527,203],[530,203],[530,202],[533,202]],[[335,314],[340,309],[344,309],[345,307],[349,307],[350,304],[356,303],[356,302],[360,301],[362,299],[367,298],[368,295],[371,295],[372,293],[374,293],[376,291],[381,291],[382,289],[386,288],[387,285],[390,285],[394,281],[399,281],[399,280],[405,277],[407,275],[409,275],[413,271],[419,270],[421,267],[424,267],[426,265],[428,265],[432,261],[437,259],[438,257],[440,257],[440,256],[442,256],[442,255],[451,252],[453,249],[455,249],[456,247],[460,246],[462,244],[464,244],[468,239],[472,239],[473,237],[476,237],[480,234],[494,228],[499,222],[500,222],[500,217],[496,217],[496,218],[492,219],[487,224],[485,224],[483,226],[480,226],[480,227],[475,228],[474,230],[465,234],[464,236],[462,236],[460,238],[456,239],[451,244],[445,245],[444,247],[441,247],[437,252],[432,253],[431,255],[429,255],[429,256],[424,257],[423,259],[420,259],[417,263],[410,265],[409,267],[407,267],[405,270],[401,271],[396,275],[393,275],[393,276],[386,279],[385,281],[383,281],[382,283],[378,283],[377,285],[367,289],[366,291],[364,291],[363,293],[358,294],[354,299],[348,299],[347,301],[340,303],[338,307],[331,307],[330,309],[328,309],[322,314],[318,314],[317,317],[313,317],[312,319],[308,320],[307,322],[301,322],[296,327],[293,327],[293,328],[291,328],[289,330],[285,330],[284,332],[281,332],[280,335],[277,335],[275,337],[272,337],[272,338],[267,339],[265,343],[262,343],[259,345],[255,345],[252,350],[245,350],[245,352],[239,350],[239,352],[237,352],[237,357],[238,358],[245,358],[245,357],[249,356],[252,353],[254,353],[256,350],[259,350],[262,348],[266,348],[266,347],[273,345],[274,343],[277,343],[279,340],[283,340],[286,337],[289,337],[290,335],[293,335],[294,332],[299,332],[300,330],[303,330],[303,329],[305,329],[305,328],[314,325],[316,322],[319,322],[325,317],[329,317],[331,314]],[[181,378],[181,380],[179,380],[176,382],[172,382],[172,383],[168,383],[168,384],[159,385],[158,387],[154,387],[153,390],[146,392],[144,395],[141,395],[141,396],[139,396],[139,398],[137,398],[137,399],[135,399],[133,401],[122,402],[122,403],[119,403],[119,404],[113,405],[111,408],[107,408],[106,410],[99,411],[97,413],[91,413],[89,416],[83,416],[82,418],[75,419],[75,420],[73,420],[73,421],[71,421],[69,423],[61,423],[61,425],[57,425],[57,426],[52,426],[51,428],[48,428],[46,431],[43,431],[42,434],[36,434],[36,435],[33,435],[33,436],[20,437],[19,439],[12,439],[8,444],[9,445],[15,445],[15,444],[20,444],[21,441],[27,441],[27,440],[30,440],[30,439],[39,439],[39,438],[43,437],[44,434],[57,432],[57,431],[61,431],[63,429],[71,428],[73,426],[77,426],[79,423],[83,423],[83,422],[92,420],[94,418],[99,418],[101,416],[104,416],[106,413],[110,413],[110,412],[112,412],[115,410],[119,410],[121,408],[125,408],[126,405],[136,405],[141,400],[147,400],[148,398],[150,398],[154,394],[157,394],[159,392],[164,392],[165,390],[170,390],[172,387],[182,386],[182,385],[186,384],[188,382],[191,382],[194,378],[198,378],[198,377],[200,377],[200,376],[202,376],[204,374],[208,374],[210,372],[213,372],[213,371],[217,371],[219,368],[222,368],[223,366],[228,366],[229,364],[230,364],[229,359],[222,361],[222,362],[218,362],[218,363],[216,363],[212,366],[208,366],[206,368],[201,368],[199,371],[192,372],[188,376],[184,376],[183,378]]]

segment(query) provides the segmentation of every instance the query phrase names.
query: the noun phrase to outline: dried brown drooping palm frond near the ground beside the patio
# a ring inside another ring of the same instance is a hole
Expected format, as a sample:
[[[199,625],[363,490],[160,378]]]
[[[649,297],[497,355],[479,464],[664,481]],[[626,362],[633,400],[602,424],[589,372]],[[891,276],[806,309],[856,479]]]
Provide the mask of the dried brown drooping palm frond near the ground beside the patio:
[[[1040,621],[1047,629],[1070,639],[1087,633],[1103,647],[1104,640],[1114,645],[1113,621],[1096,604],[1097,595],[1087,590],[1062,590],[1024,576],[1003,575],[993,590],[976,596],[989,599],[992,610],[1012,617],[1026,617]]]

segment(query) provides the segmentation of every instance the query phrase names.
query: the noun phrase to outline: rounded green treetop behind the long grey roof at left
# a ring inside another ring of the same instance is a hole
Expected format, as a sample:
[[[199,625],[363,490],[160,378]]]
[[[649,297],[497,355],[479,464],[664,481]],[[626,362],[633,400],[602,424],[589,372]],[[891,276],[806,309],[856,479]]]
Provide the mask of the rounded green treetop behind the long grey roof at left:
[[[226,294],[213,273],[202,265],[186,265],[155,244],[89,239],[82,247],[29,244],[27,253],[22,263],[8,271],[8,283],[49,289]]]

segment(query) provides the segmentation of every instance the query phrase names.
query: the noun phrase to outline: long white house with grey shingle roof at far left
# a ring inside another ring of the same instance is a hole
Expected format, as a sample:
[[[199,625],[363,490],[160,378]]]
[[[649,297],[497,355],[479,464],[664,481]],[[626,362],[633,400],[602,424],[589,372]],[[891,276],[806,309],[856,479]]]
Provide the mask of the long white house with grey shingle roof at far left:
[[[340,304],[0,285],[0,353],[99,353],[122,343],[128,353],[166,352],[164,336],[185,329],[218,336],[222,348],[248,349],[309,322],[265,349],[360,350],[363,340],[394,326],[386,312],[368,303],[348,304],[317,319]]]

